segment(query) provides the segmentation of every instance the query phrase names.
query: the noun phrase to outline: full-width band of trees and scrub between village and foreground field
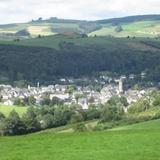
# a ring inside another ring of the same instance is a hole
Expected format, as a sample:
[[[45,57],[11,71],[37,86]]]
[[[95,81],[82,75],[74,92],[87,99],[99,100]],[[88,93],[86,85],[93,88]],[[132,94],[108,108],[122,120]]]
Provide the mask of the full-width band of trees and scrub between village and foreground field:
[[[83,109],[77,104],[64,105],[55,103],[55,100],[54,103],[44,100],[45,103],[39,107],[28,107],[22,117],[14,110],[8,117],[0,113],[0,135],[29,134],[67,124],[74,131],[99,131],[159,119],[160,93],[152,92],[148,96],[131,105],[125,97],[114,96],[107,103],[90,105],[88,109]],[[154,114],[149,114],[153,110]],[[96,120],[97,125],[87,128],[86,123],[92,120]]]

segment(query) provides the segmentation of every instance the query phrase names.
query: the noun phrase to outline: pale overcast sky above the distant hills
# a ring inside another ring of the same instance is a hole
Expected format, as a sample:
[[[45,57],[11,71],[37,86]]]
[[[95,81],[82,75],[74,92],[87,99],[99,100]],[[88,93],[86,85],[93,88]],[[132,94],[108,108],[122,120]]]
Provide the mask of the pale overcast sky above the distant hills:
[[[0,0],[1,24],[38,17],[95,20],[139,14],[160,14],[160,0]]]

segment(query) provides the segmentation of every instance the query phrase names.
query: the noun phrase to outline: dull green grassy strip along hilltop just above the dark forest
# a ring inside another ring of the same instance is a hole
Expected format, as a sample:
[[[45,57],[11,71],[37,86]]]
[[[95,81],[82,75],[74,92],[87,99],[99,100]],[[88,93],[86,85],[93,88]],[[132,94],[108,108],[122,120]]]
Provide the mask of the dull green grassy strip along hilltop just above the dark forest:
[[[110,38],[110,37],[88,37],[88,38],[69,38],[66,36],[46,36],[42,38],[34,38],[21,40],[19,42],[15,41],[4,41],[0,40],[0,44],[11,44],[11,45],[22,45],[22,46],[38,46],[38,47],[49,47],[49,48],[59,48],[60,42],[72,42],[76,45],[108,45],[112,47],[121,47],[124,45],[138,48],[139,50],[149,50],[153,49],[147,45],[141,43],[141,40],[147,40],[144,38],[136,39],[127,39],[127,38]],[[159,43],[159,40],[150,39],[150,41],[156,41]]]

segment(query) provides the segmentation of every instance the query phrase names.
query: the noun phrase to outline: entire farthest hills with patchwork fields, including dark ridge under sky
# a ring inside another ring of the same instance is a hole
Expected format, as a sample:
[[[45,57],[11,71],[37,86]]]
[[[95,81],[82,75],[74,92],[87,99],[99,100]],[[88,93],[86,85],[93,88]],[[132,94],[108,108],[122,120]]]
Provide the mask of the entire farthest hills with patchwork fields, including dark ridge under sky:
[[[119,26],[122,29],[117,31],[116,28]],[[63,32],[85,33],[89,36],[157,37],[160,34],[160,15],[130,16],[98,21],[67,20],[55,17],[43,20],[40,18],[23,24],[0,25],[0,39],[14,39],[15,34],[21,30],[27,30],[31,37]]]

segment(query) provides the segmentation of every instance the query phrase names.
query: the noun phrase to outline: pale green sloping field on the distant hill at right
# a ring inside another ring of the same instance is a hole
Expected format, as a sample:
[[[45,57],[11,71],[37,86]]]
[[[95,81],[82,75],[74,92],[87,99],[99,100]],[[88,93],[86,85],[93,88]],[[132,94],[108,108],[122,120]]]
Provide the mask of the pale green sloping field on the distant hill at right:
[[[133,23],[121,24],[123,31],[115,32],[115,27],[112,25],[104,25],[102,29],[90,33],[90,36],[98,35],[112,35],[115,37],[137,36],[137,37],[155,37],[160,34],[160,22],[159,21],[140,21]]]

